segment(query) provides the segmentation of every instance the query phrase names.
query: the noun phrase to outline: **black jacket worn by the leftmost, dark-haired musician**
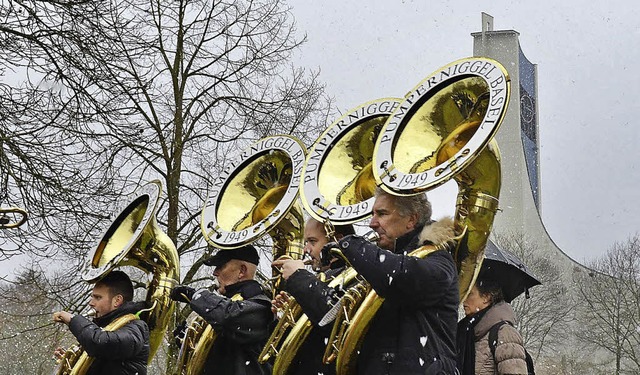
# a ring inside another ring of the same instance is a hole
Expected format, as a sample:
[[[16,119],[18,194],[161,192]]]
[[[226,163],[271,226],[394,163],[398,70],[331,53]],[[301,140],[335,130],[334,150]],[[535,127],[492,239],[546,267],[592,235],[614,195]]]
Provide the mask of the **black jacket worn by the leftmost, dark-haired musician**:
[[[146,375],[149,359],[149,327],[143,320],[133,320],[115,331],[104,331],[113,320],[135,314],[145,308],[144,302],[125,302],[116,310],[93,322],[76,315],[69,329],[80,346],[93,357],[87,375]]]

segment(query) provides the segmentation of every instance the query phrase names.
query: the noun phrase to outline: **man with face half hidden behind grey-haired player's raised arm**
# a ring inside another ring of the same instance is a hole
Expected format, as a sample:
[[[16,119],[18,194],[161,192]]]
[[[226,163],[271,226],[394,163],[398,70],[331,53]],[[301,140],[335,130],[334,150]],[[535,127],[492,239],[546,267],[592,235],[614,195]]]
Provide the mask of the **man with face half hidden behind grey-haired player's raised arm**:
[[[352,225],[336,226],[335,231],[336,239],[355,233]],[[345,268],[343,259],[333,256],[327,248],[324,248],[329,241],[323,223],[315,219],[307,220],[304,226],[304,252],[313,260],[314,271],[324,272],[327,280],[338,275]],[[334,364],[322,363],[332,325],[319,327],[318,323],[337,302],[338,296],[326,282],[318,279],[318,275],[307,271],[301,260],[276,260],[273,265],[281,267],[282,277],[286,280],[285,291],[296,299],[302,311],[314,324],[309,337],[298,350],[288,374],[335,374]],[[278,295],[272,301],[274,310],[282,306],[286,300],[286,293]]]

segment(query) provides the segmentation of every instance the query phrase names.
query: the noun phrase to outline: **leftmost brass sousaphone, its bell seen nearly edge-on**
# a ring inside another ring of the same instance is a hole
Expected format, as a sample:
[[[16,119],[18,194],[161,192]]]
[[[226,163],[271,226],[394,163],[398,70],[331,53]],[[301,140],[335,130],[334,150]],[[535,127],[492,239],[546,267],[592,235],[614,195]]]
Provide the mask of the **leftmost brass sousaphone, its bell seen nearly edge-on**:
[[[156,222],[161,192],[162,184],[158,180],[136,190],[136,197],[119,210],[118,217],[104,232],[94,251],[89,253],[87,265],[81,274],[82,279],[90,283],[97,282],[120,266],[134,266],[153,275],[146,296],[150,308],[145,321],[152,327],[149,362],[164,341],[173,315],[175,302],[169,298],[169,294],[178,281],[180,268],[175,245]],[[125,315],[113,321],[105,330],[116,330],[133,318],[131,314]],[[92,361],[81,348],[73,347],[64,354],[54,373],[84,374]]]

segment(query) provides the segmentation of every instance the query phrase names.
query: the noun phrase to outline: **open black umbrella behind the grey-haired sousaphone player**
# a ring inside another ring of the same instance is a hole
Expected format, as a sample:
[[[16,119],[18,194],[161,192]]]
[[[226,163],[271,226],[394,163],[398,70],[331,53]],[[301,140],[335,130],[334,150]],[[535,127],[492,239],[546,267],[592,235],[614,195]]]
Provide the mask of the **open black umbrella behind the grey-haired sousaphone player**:
[[[484,256],[480,274],[496,280],[502,286],[504,300],[507,302],[513,301],[523,292],[527,292],[528,297],[529,288],[542,284],[518,257],[500,249],[492,241],[487,242]]]

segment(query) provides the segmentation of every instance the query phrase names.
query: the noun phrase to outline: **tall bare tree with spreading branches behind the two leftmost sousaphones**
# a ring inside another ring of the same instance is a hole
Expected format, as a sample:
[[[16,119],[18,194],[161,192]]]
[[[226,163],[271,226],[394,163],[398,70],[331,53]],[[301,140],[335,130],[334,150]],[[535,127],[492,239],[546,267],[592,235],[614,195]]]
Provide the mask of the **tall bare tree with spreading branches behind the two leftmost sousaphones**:
[[[303,41],[279,0],[2,2],[0,66],[20,79],[0,86],[0,188],[32,215],[12,238],[32,267],[64,264],[49,298],[76,295],[108,207],[153,178],[190,263],[181,282],[196,279],[199,211],[228,157],[277,133],[310,143],[326,124],[317,73],[289,63]]]

